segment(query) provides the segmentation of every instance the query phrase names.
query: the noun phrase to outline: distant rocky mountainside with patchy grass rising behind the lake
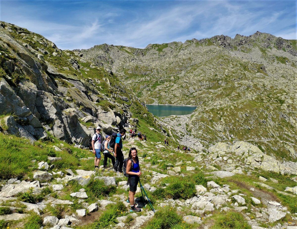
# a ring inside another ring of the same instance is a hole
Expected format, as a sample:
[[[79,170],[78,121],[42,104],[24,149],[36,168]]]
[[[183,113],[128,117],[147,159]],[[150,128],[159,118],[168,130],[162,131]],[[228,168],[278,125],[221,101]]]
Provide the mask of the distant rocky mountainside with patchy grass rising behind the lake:
[[[146,103],[198,106],[178,120],[205,148],[242,140],[278,159],[297,159],[296,40],[256,32],[74,52],[111,69]],[[169,124],[181,132],[178,122]]]

